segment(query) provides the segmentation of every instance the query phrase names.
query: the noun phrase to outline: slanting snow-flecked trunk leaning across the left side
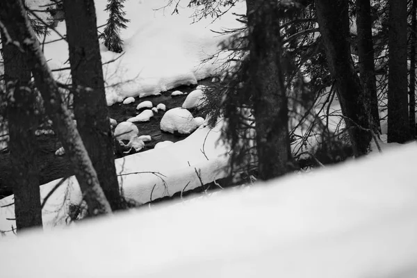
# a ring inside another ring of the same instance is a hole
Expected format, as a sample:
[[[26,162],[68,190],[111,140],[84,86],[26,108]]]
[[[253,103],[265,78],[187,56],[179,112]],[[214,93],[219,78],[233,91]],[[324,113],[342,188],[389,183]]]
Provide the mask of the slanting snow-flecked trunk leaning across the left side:
[[[5,27],[3,31],[7,31],[13,40],[8,43],[21,49],[26,63],[31,67],[35,84],[44,99],[44,108],[54,122],[58,138],[69,154],[83,197],[87,202],[89,214],[111,213],[111,206],[100,187],[97,173],[92,167],[70,112],[63,103],[58,85],[26,16],[22,0],[0,1],[0,22]]]

